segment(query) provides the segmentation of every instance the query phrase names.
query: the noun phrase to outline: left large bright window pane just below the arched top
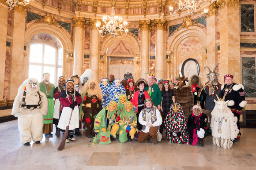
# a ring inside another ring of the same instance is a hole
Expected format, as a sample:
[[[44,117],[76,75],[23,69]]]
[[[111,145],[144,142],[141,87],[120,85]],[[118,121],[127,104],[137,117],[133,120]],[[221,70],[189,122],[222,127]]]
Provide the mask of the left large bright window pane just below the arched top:
[[[43,45],[31,44],[30,45],[30,62],[42,63]]]

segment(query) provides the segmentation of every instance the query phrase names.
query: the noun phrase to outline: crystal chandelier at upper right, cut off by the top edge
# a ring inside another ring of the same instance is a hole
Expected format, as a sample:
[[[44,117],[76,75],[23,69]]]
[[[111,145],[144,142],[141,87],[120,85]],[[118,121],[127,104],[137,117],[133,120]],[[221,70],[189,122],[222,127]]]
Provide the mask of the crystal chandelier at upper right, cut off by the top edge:
[[[187,9],[188,14],[191,14],[192,16],[194,15],[194,12],[196,12],[196,9],[201,8],[201,4],[204,2],[208,2],[210,0],[173,0],[176,4],[179,5],[179,8],[173,12],[173,7],[169,7],[169,12],[171,15],[176,14],[177,12]],[[204,13],[207,13],[208,10],[204,10]],[[173,12],[173,14],[172,14]]]

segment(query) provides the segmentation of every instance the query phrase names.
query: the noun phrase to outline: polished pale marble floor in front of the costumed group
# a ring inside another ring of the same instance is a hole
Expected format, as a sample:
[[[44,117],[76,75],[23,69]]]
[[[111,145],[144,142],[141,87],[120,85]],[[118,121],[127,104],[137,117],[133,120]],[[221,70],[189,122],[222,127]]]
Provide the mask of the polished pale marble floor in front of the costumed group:
[[[55,133],[55,132],[53,132]],[[61,138],[43,137],[41,144],[24,146],[19,140],[17,120],[0,123],[1,170],[255,170],[256,129],[241,129],[241,140],[231,149],[212,144],[211,136],[199,145],[169,144],[166,137],[151,145],[137,141],[88,147],[89,138],[58,151]]]

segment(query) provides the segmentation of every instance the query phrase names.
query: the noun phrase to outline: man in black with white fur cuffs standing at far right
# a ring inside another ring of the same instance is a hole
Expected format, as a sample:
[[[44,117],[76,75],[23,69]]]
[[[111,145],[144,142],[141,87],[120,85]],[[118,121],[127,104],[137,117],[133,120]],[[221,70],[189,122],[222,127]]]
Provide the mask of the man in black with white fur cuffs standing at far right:
[[[243,107],[247,104],[244,96],[244,86],[242,84],[237,84],[233,82],[233,76],[227,74],[224,76],[225,85],[221,87],[221,98],[224,98],[228,102],[228,107],[232,111],[235,117],[237,117],[237,128],[240,130],[240,115],[242,113]],[[233,142],[240,141],[241,132],[237,134],[237,138]]]

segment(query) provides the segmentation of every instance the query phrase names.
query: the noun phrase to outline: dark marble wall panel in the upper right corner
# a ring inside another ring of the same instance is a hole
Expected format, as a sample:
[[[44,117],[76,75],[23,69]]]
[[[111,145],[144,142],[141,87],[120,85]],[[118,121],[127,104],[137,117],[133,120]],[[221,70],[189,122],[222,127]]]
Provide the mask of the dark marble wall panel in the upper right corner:
[[[241,4],[241,32],[254,32],[253,4]]]

